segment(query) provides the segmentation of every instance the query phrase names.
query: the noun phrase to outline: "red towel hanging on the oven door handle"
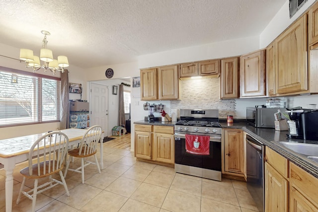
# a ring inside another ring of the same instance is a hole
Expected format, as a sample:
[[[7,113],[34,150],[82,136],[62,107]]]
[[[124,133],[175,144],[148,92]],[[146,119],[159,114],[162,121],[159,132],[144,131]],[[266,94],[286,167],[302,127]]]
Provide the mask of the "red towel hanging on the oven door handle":
[[[199,141],[199,147],[194,146],[194,141]],[[185,150],[191,154],[209,155],[210,154],[210,136],[185,135]]]

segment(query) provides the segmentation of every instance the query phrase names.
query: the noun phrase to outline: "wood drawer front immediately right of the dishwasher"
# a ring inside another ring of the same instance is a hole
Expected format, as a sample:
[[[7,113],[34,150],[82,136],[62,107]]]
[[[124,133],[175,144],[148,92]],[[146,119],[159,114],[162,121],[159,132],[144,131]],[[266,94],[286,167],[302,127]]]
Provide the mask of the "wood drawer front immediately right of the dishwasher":
[[[281,175],[288,178],[288,160],[267,146],[265,155],[267,162],[271,164]]]

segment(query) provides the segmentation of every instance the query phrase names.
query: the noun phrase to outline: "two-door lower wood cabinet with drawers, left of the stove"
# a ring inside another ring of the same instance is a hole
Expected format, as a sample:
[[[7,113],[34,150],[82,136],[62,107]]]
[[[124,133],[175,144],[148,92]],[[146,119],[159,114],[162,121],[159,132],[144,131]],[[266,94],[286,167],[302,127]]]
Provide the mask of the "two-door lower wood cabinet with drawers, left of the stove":
[[[149,162],[174,165],[174,128],[136,124],[135,156]]]

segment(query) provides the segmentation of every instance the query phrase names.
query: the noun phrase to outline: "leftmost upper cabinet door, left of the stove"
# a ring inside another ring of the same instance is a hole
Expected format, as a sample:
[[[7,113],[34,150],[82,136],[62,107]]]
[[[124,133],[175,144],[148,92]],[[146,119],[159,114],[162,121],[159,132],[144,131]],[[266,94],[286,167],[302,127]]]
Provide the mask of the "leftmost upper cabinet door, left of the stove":
[[[158,98],[158,78],[157,69],[145,69],[140,71],[141,100],[157,100]]]

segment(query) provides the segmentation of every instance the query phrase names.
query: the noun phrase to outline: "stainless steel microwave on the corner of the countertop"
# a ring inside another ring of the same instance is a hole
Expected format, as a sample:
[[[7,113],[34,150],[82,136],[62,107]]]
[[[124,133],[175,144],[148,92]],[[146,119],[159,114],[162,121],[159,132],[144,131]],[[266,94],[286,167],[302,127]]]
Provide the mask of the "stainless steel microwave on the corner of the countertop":
[[[275,128],[274,113],[277,113],[278,109],[281,110],[282,113],[286,111],[285,108],[247,107],[247,124],[257,128]]]

